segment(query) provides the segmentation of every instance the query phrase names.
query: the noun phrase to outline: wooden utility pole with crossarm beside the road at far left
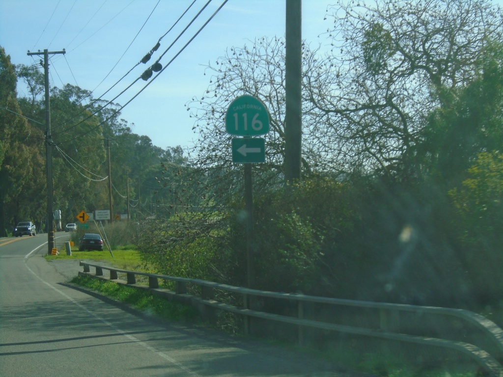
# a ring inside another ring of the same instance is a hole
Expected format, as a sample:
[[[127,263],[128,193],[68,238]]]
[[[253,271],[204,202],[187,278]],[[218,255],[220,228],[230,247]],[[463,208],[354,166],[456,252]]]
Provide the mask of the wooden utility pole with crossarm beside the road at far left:
[[[47,253],[51,254],[54,248],[54,198],[52,189],[52,145],[54,144],[51,137],[51,107],[49,101],[49,55],[65,54],[63,51],[49,52],[47,49],[44,52],[30,52],[28,55],[44,55],[44,79],[45,79],[45,156],[46,156],[46,172],[47,172]]]

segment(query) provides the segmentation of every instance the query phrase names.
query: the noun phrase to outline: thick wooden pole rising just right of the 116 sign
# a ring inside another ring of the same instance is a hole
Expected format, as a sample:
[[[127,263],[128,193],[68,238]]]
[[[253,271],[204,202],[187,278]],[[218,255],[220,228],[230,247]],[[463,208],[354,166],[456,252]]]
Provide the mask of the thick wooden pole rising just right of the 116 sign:
[[[286,2],[285,180],[300,179],[302,147],[302,1]]]

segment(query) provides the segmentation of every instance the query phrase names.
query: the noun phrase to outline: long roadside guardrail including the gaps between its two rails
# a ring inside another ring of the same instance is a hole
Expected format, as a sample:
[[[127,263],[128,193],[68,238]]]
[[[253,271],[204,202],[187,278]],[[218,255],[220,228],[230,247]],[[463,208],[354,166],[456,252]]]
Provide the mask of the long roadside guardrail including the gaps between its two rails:
[[[500,364],[503,362],[503,330],[487,318],[467,310],[275,293],[233,287],[200,279],[123,270],[87,261],[80,261],[80,265],[83,266],[83,271],[79,272],[79,275],[115,280],[119,284],[149,290],[153,294],[190,304],[206,316],[211,315],[208,308],[238,314],[244,320],[245,334],[251,333],[250,326],[253,326],[253,319],[262,319],[294,325],[298,329],[298,342],[301,345],[313,337],[312,331],[309,334],[310,330],[318,329],[442,347],[468,355],[492,377],[503,377],[503,367]],[[95,274],[91,273],[90,267],[96,269]],[[109,277],[103,274],[103,270],[110,272]],[[119,274],[125,275],[126,280],[119,279]],[[142,277],[145,281],[148,279],[148,285],[137,284],[137,276]],[[175,289],[160,288],[159,280],[174,283]],[[190,294],[188,293],[189,287],[191,287]],[[224,295],[218,293],[224,293]],[[228,296],[229,294],[241,296],[241,305],[237,305],[236,300],[233,300],[231,304],[222,302],[222,300],[218,301],[218,296]],[[271,313],[266,311],[268,306],[264,304],[264,300],[283,301],[288,304],[280,305],[282,310]],[[294,307],[291,305],[292,302],[296,304]],[[315,310],[314,305],[319,307]],[[367,314],[365,316],[366,326],[333,323],[334,319],[341,319],[340,313],[344,313],[334,310],[336,307],[346,307],[346,311],[351,308],[370,310],[373,315]],[[369,320],[371,317],[373,320]],[[429,320],[425,321],[427,317]],[[404,323],[403,319],[411,321]],[[436,324],[434,326],[436,329],[432,330],[428,325],[432,323]],[[455,329],[447,329],[449,326]],[[471,330],[467,331],[468,328]],[[427,335],[420,334],[420,332],[427,333]],[[429,332],[440,333],[445,335],[447,339],[431,336],[428,334]],[[466,341],[467,337],[470,337],[468,342]]]

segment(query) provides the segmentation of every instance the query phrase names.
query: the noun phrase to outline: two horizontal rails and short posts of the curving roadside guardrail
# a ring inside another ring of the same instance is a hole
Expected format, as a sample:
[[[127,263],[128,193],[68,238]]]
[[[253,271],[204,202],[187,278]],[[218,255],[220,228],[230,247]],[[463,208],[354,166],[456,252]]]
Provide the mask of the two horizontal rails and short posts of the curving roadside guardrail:
[[[204,306],[217,308],[242,315],[244,321],[244,332],[248,333],[248,320],[250,317],[262,318],[269,321],[277,321],[298,326],[299,343],[304,343],[304,332],[307,328],[315,328],[336,332],[343,332],[354,335],[363,335],[381,339],[395,340],[408,343],[423,344],[427,346],[443,347],[461,352],[468,355],[476,361],[491,377],[503,377],[503,366],[500,361],[503,360],[503,330],[501,330],[494,322],[487,318],[463,309],[450,309],[439,307],[425,307],[403,304],[388,304],[376,303],[367,301],[354,301],[344,299],[333,299],[325,297],[307,296],[302,294],[285,294],[269,291],[252,290],[248,288],[240,288],[219,284],[212,281],[190,279],[184,277],[167,276],[161,274],[153,274],[139,271],[123,270],[115,267],[104,266],[94,262],[80,261],[80,266],[83,266],[83,272],[79,275],[92,276],[103,280],[115,280],[119,284],[134,286],[136,288],[149,290],[152,293],[180,301],[191,302],[192,304],[202,304]],[[90,267],[96,268],[96,273],[92,274]],[[110,272],[109,277],[104,276],[103,270]],[[120,280],[118,274],[125,274],[126,280]],[[145,276],[148,278],[148,286],[136,283],[136,276]],[[159,288],[159,279],[164,281],[172,281],[176,284],[175,291]],[[187,294],[187,286],[195,285],[200,287],[199,296]],[[225,291],[242,296],[242,307],[218,302],[214,300],[214,291]],[[297,303],[297,317],[266,313],[256,308],[250,308],[250,298],[272,298],[278,300],[289,300]],[[354,327],[341,325],[329,322],[320,322],[305,318],[304,308],[308,303],[327,304],[333,306],[358,307],[365,309],[376,309],[380,312],[379,329],[369,329],[362,327]],[[388,323],[390,313],[398,312],[413,312],[415,314],[430,314],[442,315],[457,318],[462,320],[467,325],[477,328],[484,335],[485,339],[492,344],[493,354],[489,354],[481,347],[460,340],[447,340],[427,336],[409,335],[389,331]],[[499,360],[499,361],[498,361]]]

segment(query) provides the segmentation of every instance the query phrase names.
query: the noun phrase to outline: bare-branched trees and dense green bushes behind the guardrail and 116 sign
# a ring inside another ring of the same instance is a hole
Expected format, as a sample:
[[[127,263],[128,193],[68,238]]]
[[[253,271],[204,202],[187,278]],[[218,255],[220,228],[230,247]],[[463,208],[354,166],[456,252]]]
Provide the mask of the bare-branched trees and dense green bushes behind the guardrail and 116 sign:
[[[229,47],[187,104],[201,136],[191,190],[204,206],[152,224],[146,238],[158,243],[141,244],[146,259],[247,284],[243,171],[230,160],[225,113],[249,94],[271,113],[267,161],[253,166],[255,287],[499,303],[501,10],[484,0],[339,2],[327,19],[332,49],[303,45],[302,180],[284,190],[284,40]]]

